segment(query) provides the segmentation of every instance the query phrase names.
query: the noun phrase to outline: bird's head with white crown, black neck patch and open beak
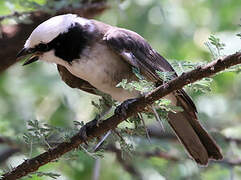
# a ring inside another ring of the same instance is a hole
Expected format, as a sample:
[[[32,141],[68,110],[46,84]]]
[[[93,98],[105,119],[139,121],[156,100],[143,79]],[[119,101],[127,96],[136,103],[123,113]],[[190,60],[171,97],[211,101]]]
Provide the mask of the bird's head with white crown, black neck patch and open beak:
[[[39,59],[56,64],[71,62],[78,58],[93,31],[90,20],[75,14],[52,17],[33,30],[17,58],[30,55],[23,65]]]

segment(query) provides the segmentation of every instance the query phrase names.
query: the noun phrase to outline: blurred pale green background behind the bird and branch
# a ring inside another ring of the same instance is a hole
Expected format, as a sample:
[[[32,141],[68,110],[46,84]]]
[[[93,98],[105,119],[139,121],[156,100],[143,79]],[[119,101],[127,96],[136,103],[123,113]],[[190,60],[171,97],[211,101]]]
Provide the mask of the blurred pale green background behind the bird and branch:
[[[54,3],[63,7],[77,0],[61,0]],[[2,0],[0,15],[13,11],[34,11],[51,3],[47,0]],[[169,61],[211,61],[212,55],[204,45],[211,34],[225,43],[222,53],[228,55],[241,49],[240,33],[241,1],[239,0],[116,0],[109,1],[111,8],[96,19],[111,25],[124,27],[142,35],[154,49]],[[2,25],[18,23],[6,19]],[[27,37],[26,37],[27,38]],[[0,39],[1,40],[1,39]],[[7,44],[6,44],[7,46]],[[37,119],[56,127],[73,127],[74,121],[87,122],[96,113],[91,101],[98,97],[71,89],[61,81],[56,66],[38,62],[26,67],[22,62],[0,74],[0,135],[22,144],[27,132],[27,121]],[[224,157],[241,161],[241,75],[225,72],[214,77],[211,92],[201,93],[187,89],[193,97],[200,121],[220,144]],[[125,125],[122,125],[125,126]],[[238,141],[226,141],[225,138]],[[128,139],[128,138],[127,138]],[[129,162],[146,180],[162,179],[241,179],[241,163],[211,162],[199,167],[187,158],[180,144],[168,139],[154,139],[151,143],[144,137],[128,139],[135,149],[152,151],[159,147],[177,155],[181,161],[162,158],[131,156]],[[21,145],[23,146],[23,145]],[[1,164],[2,172],[20,164],[24,159],[43,152],[43,148],[25,145],[23,152],[10,157]],[[0,144],[0,153],[8,148]],[[30,150],[32,153],[30,153]],[[66,155],[58,162],[40,168],[41,172],[60,174],[57,179],[92,179],[94,167],[100,167],[100,180],[128,180],[134,177],[126,172],[113,153],[104,152],[100,160],[82,150]],[[37,177],[25,179],[50,179]]]

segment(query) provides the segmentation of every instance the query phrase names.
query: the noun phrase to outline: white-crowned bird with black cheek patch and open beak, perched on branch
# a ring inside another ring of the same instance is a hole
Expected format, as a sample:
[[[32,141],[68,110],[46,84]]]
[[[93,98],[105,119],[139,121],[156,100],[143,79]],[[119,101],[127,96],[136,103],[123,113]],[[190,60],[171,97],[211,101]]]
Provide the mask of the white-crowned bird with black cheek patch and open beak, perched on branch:
[[[17,58],[30,55],[23,65],[41,60],[55,63],[62,79],[72,87],[95,94],[99,90],[118,102],[136,99],[139,91],[128,91],[117,84],[123,79],[137,80],[136,68],[148,80],[163,83],[157,72],[173,72],[170,63],[134,31],[80,17],[76,14],[54,16],[38,25],[26,40]],[[73,78],[77,84],[68,83]],[[165,96],[183,111],[169,112],[168,123],[198,164],[223,158],[220,147],[201,125],[197,109],[184,89]]]

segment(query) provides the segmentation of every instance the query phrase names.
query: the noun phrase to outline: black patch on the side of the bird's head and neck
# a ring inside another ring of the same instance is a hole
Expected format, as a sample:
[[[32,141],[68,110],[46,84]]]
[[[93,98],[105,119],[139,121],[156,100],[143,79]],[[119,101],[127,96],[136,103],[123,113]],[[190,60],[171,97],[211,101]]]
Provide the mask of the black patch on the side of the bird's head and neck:
[[[54,49],[55,55],[67,62],[79,59],[82,50],[93,37],[86,28],[88,27],[78,23],[73,24],[67,32],[59,34],[49,42],[46,49]]]

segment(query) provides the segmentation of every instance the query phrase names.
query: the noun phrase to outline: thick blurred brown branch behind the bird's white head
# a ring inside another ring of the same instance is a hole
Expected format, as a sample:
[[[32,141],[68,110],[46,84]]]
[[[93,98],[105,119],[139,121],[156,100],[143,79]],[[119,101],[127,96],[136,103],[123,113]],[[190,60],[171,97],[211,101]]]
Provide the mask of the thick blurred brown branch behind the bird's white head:
[[[81,3],[82,1],[80,1]],[[26,38],[41,22],[49,19],[52,16],[74,13],[86,18],[93,18],[108,8],[106,0],[99,0],[93,3],[82,3],[80,8],[65,7],[60,9],[55,14],[49,14],[44,11],[34,11],[29,13],[29,19],[32,23],[16,24],[16,25],[1,25],[0,24],[0,73],[17,62],[16,54],[22,49]],[[24,13],[26,14],[26,13]],[[14,16],[10,15],[10,16]],[[6,17],[2,17],[6,18]],[[0,18],[1,20],[1,18]]]

